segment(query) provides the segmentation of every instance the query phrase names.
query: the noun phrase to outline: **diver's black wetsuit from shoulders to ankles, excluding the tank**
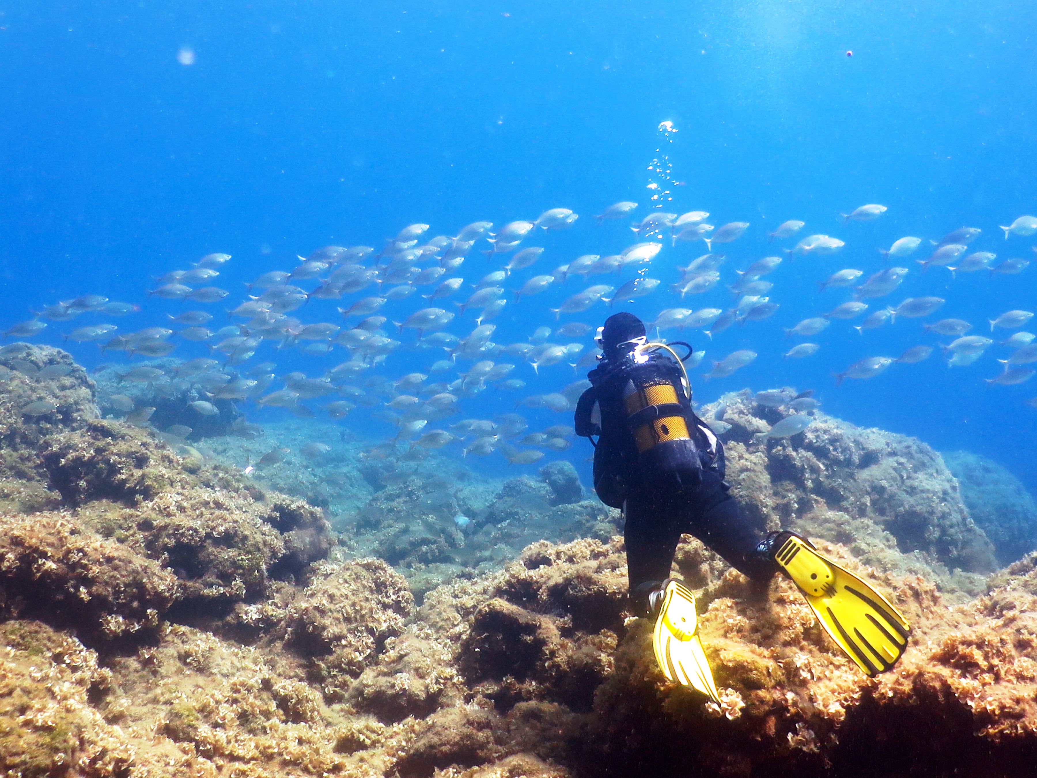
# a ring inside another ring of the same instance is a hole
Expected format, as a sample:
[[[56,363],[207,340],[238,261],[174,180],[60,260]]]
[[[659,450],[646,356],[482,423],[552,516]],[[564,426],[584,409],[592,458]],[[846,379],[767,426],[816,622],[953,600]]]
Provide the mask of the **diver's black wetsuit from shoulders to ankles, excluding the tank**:
[[[607,505],[622,508],[626,520],[626,564],[632,595],[670,577],[673,555],[683,532],[698,537],[733,567],[756,580],[775,573],[774,562],[757,551],[762,534],[738,512],[724,481],[724,445],[692,410],[691,398],[680,393],[684,419],[698,450],[701,468],[683,473],[642,472],[640,456],[623,405],[630,371],[671,371],[676,386],[677,364],[652,356],[644,364],[622,359],[602,361],[587,378],[592,386],[577,404],[577,435],[599,435],[594,450],[594,490]],[[597,404],[600,424],[591,422]],[[642,604],[643,605],[643,604]]]

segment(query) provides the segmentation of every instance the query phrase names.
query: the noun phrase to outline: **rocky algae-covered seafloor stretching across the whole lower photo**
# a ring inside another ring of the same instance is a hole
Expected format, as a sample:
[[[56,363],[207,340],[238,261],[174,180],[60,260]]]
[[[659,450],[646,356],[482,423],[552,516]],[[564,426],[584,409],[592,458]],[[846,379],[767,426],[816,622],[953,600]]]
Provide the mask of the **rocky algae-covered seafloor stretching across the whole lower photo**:
[[[359,442],[332,440],[333,468],[246,475],[243,457],[284,441],[170,441],[104,418],[64,352],[17,359],[0,357],[8,775],[1037,772],[1033,528],[984,531],[968,507],[983,500],[917,440],[822,414],[766,439],[781,411],[724,398],[744,509],[875,581],[914,635],[867,678],[788,581],[761,598],[685,537],[674,572],[699,599],[717,705],[658,672],[620,520],[564,468],[446,472],[429,500],[445,460],[387,484]],[[30,369],[49,365],[68,367]]]

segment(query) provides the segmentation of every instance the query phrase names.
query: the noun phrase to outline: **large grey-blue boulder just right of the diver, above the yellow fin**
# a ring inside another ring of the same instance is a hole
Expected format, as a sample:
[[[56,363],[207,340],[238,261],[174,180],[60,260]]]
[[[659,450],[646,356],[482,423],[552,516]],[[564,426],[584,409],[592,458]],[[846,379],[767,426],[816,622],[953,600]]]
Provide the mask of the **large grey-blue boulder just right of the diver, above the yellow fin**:
[[[941,455],[915,438],[856,427],[815,413],[798,435],[764,433],[787,414],[756,404],[748,392],[702,409],[712,418],[726,404],[721,439],[728,480],[742,510],[763,530],[796,527],[818,507],[874,522],[901,553],[971,573],[998,567],[993,545],[961,501]]]

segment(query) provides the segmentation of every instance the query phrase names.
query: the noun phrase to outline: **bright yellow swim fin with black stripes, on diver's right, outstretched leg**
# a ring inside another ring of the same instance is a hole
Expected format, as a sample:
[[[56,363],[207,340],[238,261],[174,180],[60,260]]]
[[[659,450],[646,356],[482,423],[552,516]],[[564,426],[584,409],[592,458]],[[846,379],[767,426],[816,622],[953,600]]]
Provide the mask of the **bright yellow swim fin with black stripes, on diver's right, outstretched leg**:
[[[857,666],[874,676],[907,647],[910,624],[889,600],[794,532],[777,537],[775,561],[807,599],[824,631]]]

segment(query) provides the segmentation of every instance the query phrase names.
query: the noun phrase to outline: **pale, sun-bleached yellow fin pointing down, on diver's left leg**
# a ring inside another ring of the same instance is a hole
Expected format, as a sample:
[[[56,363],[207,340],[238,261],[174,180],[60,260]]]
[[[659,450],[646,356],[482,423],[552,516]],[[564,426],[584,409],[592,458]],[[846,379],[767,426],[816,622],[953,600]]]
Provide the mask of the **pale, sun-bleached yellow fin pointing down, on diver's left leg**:
[[[679,581],[670,579],[663,590],[663,607],[652,632],[655,661],[668,680],[694,687],[713,702],[720,702],[697,628],[695,595]]]

